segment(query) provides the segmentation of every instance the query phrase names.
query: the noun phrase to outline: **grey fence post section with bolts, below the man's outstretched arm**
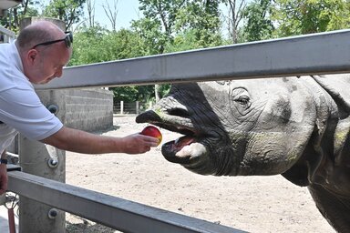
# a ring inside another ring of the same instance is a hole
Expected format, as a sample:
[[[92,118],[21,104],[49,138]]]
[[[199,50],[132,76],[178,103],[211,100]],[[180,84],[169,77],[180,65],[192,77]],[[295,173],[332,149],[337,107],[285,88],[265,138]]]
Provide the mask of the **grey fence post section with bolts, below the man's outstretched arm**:
[[[19,137],[19,158],[22,170],[39,177],[64,182],[66,152],[43,143]],[[20,196],[19,232],[61,233],[66,230],[65,212]]]

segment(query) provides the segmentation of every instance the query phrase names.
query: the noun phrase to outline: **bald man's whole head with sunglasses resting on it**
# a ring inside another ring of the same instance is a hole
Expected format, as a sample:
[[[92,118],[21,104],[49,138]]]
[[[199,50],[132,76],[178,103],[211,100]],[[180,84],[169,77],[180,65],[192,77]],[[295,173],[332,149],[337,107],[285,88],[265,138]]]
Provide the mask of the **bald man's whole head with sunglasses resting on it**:
[[[15,44],[28,80],[45,84],[62,76],[72,54],[72,42],[73,35],[64,33],[51,22],[38,21],[26,26]]]

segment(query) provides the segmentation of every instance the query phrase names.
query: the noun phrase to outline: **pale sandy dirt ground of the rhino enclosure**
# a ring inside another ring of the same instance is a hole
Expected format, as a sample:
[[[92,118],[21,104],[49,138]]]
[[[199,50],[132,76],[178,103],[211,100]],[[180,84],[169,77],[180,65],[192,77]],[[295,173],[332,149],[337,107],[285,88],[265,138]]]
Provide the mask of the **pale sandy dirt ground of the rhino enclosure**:
[[[108,136],[139,132],[135,116],[114,117]],[[163,142],[179,137],[161,130]],[[160,147],[143,155],[67,152],[67,184],[248,232],[335,232],[306,187],[282,176],[201,176],[166,161]],[[67,214],[67,232],[118,232]]]

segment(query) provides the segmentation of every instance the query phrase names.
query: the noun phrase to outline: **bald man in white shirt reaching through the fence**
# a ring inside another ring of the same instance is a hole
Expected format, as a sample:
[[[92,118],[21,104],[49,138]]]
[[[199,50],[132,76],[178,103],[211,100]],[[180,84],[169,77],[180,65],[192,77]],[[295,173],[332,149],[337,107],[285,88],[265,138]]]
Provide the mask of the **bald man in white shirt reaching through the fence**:
[[[140,134],[104,137],[64,127],[43,106],[32,84],[62,76],[72,53],[73,36],[57,25],[28,25],[11,44],[0,45],[0,194],[7,188],[5,148],[17,132],[63,150],[85,154],[139,154],[158,139]]]

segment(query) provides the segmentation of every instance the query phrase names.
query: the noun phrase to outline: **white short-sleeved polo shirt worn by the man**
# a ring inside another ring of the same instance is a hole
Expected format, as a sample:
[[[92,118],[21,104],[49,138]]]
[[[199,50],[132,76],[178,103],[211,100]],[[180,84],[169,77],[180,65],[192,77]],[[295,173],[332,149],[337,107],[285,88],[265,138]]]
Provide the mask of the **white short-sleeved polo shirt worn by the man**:
[[[43,106],[34,86],[23,74],[15,42],[0,44],[0,155],[17,132],[41,140],[63,127],[60,120]]]

